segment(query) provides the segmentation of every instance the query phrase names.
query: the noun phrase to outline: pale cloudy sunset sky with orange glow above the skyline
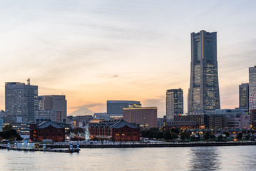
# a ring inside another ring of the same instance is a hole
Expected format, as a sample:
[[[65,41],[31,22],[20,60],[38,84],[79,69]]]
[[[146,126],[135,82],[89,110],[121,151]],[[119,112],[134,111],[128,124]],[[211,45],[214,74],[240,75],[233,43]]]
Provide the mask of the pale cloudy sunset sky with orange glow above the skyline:
[[[256,1],[0,1],[0,108],[4,83],[66,95],[68,114],[106,112],[106,100],[140,100],[165,115],[165,92],[182,88],[187,112],[190,33],[217,31],[221,108],[256,65]]]

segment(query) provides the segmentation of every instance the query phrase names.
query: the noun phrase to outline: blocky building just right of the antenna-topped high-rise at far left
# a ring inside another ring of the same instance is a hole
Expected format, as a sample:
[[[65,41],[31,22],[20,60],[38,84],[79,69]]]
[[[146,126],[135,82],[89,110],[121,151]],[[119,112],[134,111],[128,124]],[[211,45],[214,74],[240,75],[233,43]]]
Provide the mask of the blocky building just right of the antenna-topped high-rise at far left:
[[[39,110],[36,111],[38,120],[51,120],[56,123],[66,123],[66,95],[40,95]]]

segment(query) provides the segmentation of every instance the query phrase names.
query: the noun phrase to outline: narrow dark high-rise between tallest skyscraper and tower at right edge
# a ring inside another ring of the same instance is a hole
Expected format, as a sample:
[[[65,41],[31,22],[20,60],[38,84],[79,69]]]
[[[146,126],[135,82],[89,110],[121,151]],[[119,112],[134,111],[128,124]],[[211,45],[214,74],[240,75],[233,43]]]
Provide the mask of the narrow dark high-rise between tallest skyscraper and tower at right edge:
[[[239,85],[239,108],[249,109],[249,83]]]

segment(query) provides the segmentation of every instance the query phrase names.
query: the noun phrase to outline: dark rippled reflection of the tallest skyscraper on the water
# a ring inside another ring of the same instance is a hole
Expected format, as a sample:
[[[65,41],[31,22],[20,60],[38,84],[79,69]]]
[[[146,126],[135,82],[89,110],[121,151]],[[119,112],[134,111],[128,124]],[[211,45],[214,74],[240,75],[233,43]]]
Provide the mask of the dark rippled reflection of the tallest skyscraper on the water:
[[[220,170],[220,154],[217,147],[192,147],[191,170]]]

